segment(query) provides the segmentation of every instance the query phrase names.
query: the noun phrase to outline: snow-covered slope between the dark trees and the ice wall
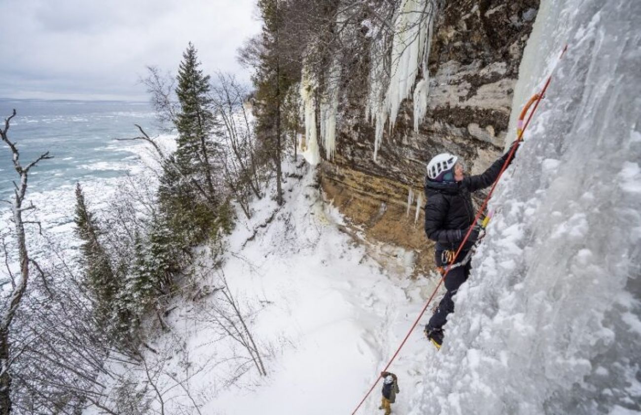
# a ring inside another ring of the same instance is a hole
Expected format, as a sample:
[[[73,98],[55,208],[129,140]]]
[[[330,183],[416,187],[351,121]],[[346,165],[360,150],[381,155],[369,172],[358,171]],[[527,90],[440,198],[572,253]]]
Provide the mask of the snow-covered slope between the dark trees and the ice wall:
[[[353,411],[433,282],[407,278],[413,253],[390,251],[395,271],[370,259],[349,235],[358,230],[344,232],[342,217],[322,200],[317,171],[302,157],[298,163],[284,165],[282,207],[268,194],[251,205],[251,219],[239,218],[220,269],[208,255],[197,257],[196,287],[186,284],[186,293],[168,307],[164,320],[171,330],[150,339],[145,364],[111,364],[121,379],[101,379],[108,385],[101,391],[109,396],[104,406],[135,400],[149,413],[172,415]],[[247,351],[218,323],[221,276],[246,318],[267,377],[258,375]],[[413,337],[394,367],[401,394],[410,397],[411,383],[433,353],[420,334]],[[379,403],[377,388],[363,409],[372,412]],[[395,409],[408,412],[408,405],[399,401]],[[99,413],[95,407],[85,411]]]

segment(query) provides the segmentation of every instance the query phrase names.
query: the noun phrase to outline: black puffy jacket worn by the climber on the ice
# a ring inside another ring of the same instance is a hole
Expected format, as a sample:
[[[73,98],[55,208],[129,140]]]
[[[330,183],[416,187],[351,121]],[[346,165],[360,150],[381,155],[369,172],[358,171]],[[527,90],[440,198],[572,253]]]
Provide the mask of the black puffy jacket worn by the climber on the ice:
[[[461,182],[431,182],[425,178],[425,233],[429,239],[445,250],[458,248],[474,221],[470,193],[492,185],[509,154],[505,153],[483,174],[466,176]]]

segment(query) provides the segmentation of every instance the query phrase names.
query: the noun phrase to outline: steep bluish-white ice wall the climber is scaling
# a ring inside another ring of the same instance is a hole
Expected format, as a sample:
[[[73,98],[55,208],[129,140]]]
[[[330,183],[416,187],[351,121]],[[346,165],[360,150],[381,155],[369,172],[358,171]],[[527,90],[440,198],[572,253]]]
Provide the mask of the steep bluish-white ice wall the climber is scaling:
[[[512,119],[568,51],[412,414],[641,412],[640,27],[639,1],[541,2]]]

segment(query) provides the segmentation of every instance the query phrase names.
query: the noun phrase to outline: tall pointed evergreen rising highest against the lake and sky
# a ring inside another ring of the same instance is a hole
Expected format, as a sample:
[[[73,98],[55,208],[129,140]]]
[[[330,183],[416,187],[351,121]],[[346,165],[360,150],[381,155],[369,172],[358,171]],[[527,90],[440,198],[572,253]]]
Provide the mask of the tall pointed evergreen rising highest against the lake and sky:
[[[221,212],[228,210],[215,169],[221,152],[214,140],[219,124],[212,112],[210,77],[203,74],[200,65],[196,48],[190,42],[177,77],[179,112],[174,122],[178,147],[163,164],[159,209],[153,225],[157,233],[154,230],[149,233],[150,238],[156,235],[158,239],[158,246],[149,254],[160,255],[154,261],[162,262],[165,253],[172,252],[172,267],[181,264],[181,256],[188,248],[210,236],[218,226]]]

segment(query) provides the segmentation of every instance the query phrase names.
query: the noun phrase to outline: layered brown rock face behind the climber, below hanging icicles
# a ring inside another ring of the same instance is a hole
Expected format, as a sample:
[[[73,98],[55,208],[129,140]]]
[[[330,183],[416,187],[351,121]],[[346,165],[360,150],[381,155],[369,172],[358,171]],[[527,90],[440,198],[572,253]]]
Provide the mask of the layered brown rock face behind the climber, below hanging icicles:
[[[502,153],[513,87],[538,0],[451,0],[437,9],[427,112],[418,132],[412,101],[406,99],[394,130],[386,128],[374,161],[373,126],[362,106],[345,105],[334,159],[320,166],[327,197],[354,224],[364,225],[370,242],[396,244],[417,254],[413,275],[433,267],[433,243],[423,232],[424,198],[417,217],[416,198],[408,212],[408,194],[411,190],[422,196],[426,162],[438,153],[462,157],[467,174],[482,173]]]

